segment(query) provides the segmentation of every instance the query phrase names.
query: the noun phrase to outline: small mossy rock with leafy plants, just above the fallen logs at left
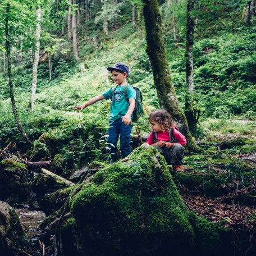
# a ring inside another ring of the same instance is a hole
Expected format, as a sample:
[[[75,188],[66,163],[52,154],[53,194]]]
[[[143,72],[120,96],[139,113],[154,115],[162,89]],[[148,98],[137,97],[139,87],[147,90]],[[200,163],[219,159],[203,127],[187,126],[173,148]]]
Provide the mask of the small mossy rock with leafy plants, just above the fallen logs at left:
[[[34,148],[30,156],[30,162],[47,161],[51,159],[54,152],[54,140],[51,135],[44,132],[34,142]]]

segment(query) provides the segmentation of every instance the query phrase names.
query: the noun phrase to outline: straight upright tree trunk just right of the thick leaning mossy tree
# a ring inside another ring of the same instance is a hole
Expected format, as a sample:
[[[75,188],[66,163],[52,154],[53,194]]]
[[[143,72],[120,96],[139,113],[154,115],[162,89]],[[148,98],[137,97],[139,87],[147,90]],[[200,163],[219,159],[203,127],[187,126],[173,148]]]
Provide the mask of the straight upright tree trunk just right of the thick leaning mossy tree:
[[[189,129],[195,129],[194,107],[193,107],[193,44],[194,44],[194,19],[191,17],[191,11],[194,10],[195,0],[188,0],[186,13],[186,97],[185,97],[185,115],[188,120]]]

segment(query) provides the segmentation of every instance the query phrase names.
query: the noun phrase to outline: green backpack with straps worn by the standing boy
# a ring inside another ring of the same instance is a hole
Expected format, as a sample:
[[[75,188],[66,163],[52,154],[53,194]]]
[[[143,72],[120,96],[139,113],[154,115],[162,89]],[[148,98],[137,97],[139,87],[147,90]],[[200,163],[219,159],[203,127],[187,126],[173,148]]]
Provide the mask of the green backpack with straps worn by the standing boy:
[[[117,85],[118,86],[118,85]],[[116,87],[114,87],[112,90],[111,90],[111,102],[112,102],[112,106],[115,106],[115,97],[113,97],[113,94],[120,94],[120,93],[124,93],[125,94],[125,99],[127,100],[127,102],[129,102],[129,98],[128,98],[128,94],[127,94],[127,89],[129,86],[131,86],[132,88],[134,88],[135,92],[136,92],[136,99],[135,99],[135,108],[134,108],[134,111],[132,112],[133,116],[132,116],[132,122],[135,122],[139,119],[139,117],[141,115],[143,115],[144,111],[143,111],[143,103],[142,103],[142,94],[140,92],[140,89],[138,87],[134,87],[132,85],[129,85],[127,84],[126,86],[124,86],[124,91],[120,92],[120,91],[117,91],[115,92],[116,90]]]

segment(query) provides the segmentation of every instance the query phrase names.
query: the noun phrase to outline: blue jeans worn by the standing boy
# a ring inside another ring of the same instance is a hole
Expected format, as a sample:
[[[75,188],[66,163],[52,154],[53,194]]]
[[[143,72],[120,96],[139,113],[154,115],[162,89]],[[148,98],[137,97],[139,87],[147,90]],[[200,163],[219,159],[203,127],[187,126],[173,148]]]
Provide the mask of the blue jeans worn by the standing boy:
[[[109,153],[111,156],[108,158],[111,162],[116,162],[117,159],[117,141],[120,135],[120,150],[122,157],[126,157],[131,153],[130,141],[131,141],[131,124],[125,125],[122,118],[119,118],[113,122],[109,122],[107,143],[110,148]]]

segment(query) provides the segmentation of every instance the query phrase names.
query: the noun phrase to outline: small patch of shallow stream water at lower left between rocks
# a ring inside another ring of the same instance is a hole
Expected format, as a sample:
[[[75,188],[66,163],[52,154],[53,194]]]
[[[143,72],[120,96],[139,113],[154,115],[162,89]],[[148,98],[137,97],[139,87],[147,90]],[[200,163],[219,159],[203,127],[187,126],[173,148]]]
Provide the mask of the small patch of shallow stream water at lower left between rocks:
[[[19,215],[21,226],[28,238],[44,232],[39,227],[45,219],[45,214],[42,211],[33,211],[29,209],[28,204],[25,204],[24,208],[15,209],[15,211]]]

